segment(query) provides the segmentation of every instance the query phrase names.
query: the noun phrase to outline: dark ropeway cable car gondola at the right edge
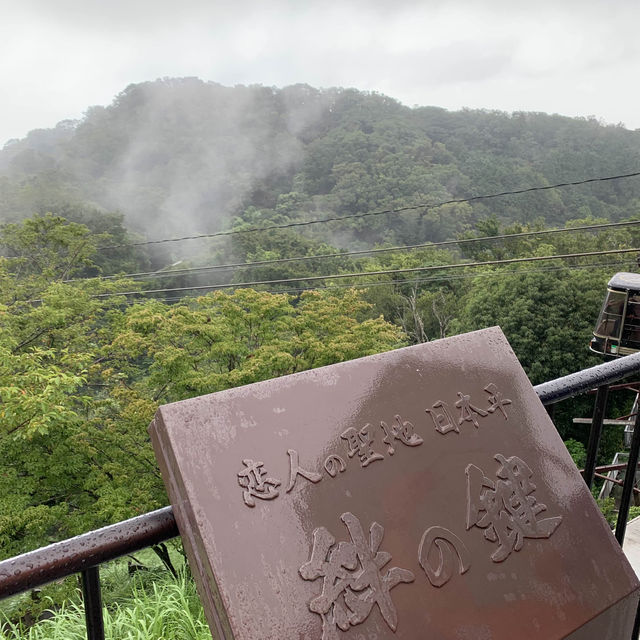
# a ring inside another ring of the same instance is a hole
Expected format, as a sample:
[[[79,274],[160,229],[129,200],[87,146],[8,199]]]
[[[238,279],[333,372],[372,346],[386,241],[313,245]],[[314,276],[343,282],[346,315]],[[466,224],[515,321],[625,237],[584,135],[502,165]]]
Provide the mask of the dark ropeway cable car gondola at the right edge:
[[[614,357],[640,351],[640,273],[616,273],[609,280],[589,348]]]

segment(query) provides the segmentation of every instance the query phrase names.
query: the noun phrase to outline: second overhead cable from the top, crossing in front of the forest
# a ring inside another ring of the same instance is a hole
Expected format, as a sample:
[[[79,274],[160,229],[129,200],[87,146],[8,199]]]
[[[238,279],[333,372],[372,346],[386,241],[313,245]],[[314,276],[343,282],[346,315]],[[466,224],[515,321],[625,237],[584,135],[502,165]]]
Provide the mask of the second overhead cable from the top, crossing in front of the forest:
[[[311,256],[297,256],[293,258],[274,258],[271,260],[254,260],[252,262],[231,262],[227,264],[212,264],[202,267],[189,267],[184,269],[169,269],[166,271],[141,271],[137,273],[124,273],[111,276],[95,276],[92,278],[72,278],[64,282],[77,282],[80,280],[112,280],[116,278],[166,278],[169,276],[182,276],[195,273],[206,273],[208,271],[218,271],[225,269],[242,269],[245,267],[262,267],[268,265],[283,264],[289,262],[304,262],[308,260],[326,260],[329,258],[346,258],[351,256],[376,255],[379,253],[387,253],[390,251],[410,251],[413,249],[439,248],[451,245],[466,245],[474,242],[493,242],[495,240],[511,240],[517,238],[535,237],[543,235],[551,235],[557,233],[571,233],[578,231],[595,231],[612,227],[629,227],[637,226],[640,220],[631,220],[627,222],[605,222],[602,224],[589,224],[579,227],[569,227],[565,229],[542,229],[538,231],[523,231],[521,233],[505,233],[495,236],[482,236],[479,238],[461,238],[459,240],[443,240],[441,242],[422,242],[420,244],[399,245],[394,247],[382,247],[378,249],[359,249],[357,251],[341,251],[336,253],[322,253]]]

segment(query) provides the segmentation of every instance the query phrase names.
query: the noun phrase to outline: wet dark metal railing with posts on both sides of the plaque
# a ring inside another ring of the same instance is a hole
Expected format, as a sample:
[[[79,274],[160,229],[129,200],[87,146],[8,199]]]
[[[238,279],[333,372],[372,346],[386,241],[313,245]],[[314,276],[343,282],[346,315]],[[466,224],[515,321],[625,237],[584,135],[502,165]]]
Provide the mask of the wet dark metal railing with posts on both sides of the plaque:
[[[542,403],[550,409],[561,402],[597,389],[584,479],[589,487],[596,471],[596,457],[602,433],[609,386],[632,374],[640,373],[640,353],[551,380],[535,388]],[[636,416],[631,451],[626,465],[618,512],[616,538],[624,540],[629,506],[634,488],[635,469],[640,451],[640,412]],[[109,560],[150,547],[179,535],[171,507],[151,511],[117,524],[56,542],[0,562],[0,599],[75,573],[82,575],[82,591],[88,640],[104,640],[99,566]],[[640,608],[631,640],[638,638]]]

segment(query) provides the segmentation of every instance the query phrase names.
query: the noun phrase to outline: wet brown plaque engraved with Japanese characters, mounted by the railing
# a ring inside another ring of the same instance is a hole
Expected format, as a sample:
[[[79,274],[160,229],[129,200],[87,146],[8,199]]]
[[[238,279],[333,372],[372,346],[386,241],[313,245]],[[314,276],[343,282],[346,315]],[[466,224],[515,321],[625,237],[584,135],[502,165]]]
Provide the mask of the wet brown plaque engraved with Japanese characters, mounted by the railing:
[[[498,328],[161,407],[215,638],[630,638],[639,584]]]

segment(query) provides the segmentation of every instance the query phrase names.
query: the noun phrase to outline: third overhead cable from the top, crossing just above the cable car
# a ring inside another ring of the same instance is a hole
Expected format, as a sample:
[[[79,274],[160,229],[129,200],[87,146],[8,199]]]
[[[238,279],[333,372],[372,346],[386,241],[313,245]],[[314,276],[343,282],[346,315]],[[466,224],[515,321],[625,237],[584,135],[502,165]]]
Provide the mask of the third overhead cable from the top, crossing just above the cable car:
[[[545,260],[567,260],[570,258],[585,258],[590,256],[616,255],[623,253],[637,253],[640,248],[611,249],[608,251],[586,251],[582,253],[566,253],[552,256],[531,256],[528,258],[508,258],[504,260],[487,260],[484,262],[460,262],[456,264],[428,265],[424,267],[409,267],[405,269],[379,269],[377,271],[359,271],[354,273],[336,273],[324,276],[304,276],[298,278],[281,278],[277,280],[254,280],[252,282],[237,282],[232,284],[195,285],[191,287],[173,287],[165,289],[143,289],[141,291],[121,291],[117,293],[96,294],[95,298],[112,298],[115,296],[149,295],[153,293],[176,293],[178,291],[214,291],[217,289],[243,289],[265,285],[287,284],[290,282],[318,282],[320,280],[337,280],[343,278],[360,278],[365,276],[392,275],[396,273],[418,273],[442,269],[461,269],[466,267],[485,267],[500,264],[517,264],[523,262],[542,262]]]

